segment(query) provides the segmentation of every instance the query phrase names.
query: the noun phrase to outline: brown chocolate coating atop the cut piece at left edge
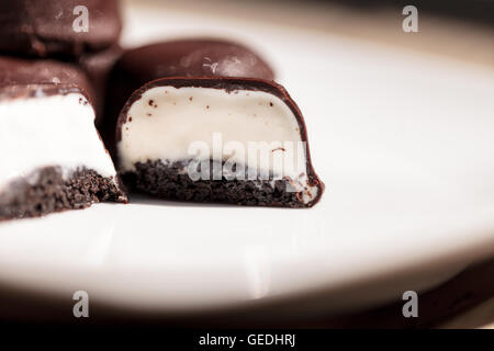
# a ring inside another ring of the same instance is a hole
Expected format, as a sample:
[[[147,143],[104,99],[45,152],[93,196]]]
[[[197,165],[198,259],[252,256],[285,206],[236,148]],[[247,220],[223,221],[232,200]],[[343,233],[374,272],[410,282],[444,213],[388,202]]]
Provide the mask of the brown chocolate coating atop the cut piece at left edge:
[[[0,56],[0,99],[80,92],[92,101],[87,75],[76,65]]]

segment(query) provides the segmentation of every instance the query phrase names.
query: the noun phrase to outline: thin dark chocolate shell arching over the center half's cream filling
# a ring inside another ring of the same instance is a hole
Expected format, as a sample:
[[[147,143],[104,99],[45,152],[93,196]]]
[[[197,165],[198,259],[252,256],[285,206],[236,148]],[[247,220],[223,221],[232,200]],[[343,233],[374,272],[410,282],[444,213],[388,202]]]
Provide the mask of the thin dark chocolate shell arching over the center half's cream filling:
[[[305,141],[306,145],[306,169],[307,169],[307,178],[308,183],[311,185],[317,186],[318,192],[317,196],[311,202],[310,206],[313,206],[316,204],[324,192],[324,183],[319,180],[317,177],[314,167],[312,166],[311,161],[311,152],[308,148],[308,140],[307,140],[307,131],[305,127],[304,117],[302,115],[302,112],[300,111],[296,103],[292,100],[288,91],[280,84],[262,80],[262,79],[252,79],[252,78],[229,78],[229,77],[223,77],[223,78],[161,78],[154,81],[150,81],[146,83],[145,86],[141,87],[138,90],[136,90],[128,101],[125,103],[124,107],[122,109],[119,120],[116,123],[116,131],[115,131],[115,139],[116,141],[120,141],[122,139],[122,126],[127,121],[127,113],[131,109],[132,104],[135,101],[138,101],[142,95],[149,89],[156,88],[156,87],[173,87],[173,88],[210,88],[210,89],[221,89],[225,90],[227,92],[234,92],[236,90],[250,90],[250,91],[262,91],[270,93],[277,98],[279,98],[281,101],[283,101],[289,109],[292,111],[293,115],[296,118],[296,122],[299,124],[300,129],[300,137],[302,141]]]

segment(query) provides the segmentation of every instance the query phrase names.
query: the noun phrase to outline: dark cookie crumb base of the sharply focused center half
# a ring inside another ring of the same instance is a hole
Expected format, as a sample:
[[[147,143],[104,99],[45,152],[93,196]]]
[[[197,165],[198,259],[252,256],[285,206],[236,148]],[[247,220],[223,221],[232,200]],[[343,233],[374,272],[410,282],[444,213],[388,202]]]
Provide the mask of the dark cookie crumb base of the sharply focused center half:
[[[121,178],[130,190],[165,200],[292,208],[310,206],[299,199],[296,192],[287,191],[290,186],[287,180],[276,180],[274,186],[266,180],[222,178],[193,181],[187,171],[182,171],[187,165],[184,161],[168,165],[161,161],[138,162],[135,171],[125,172]],[[210,161],[210,170],[213,170],[213,161]]]

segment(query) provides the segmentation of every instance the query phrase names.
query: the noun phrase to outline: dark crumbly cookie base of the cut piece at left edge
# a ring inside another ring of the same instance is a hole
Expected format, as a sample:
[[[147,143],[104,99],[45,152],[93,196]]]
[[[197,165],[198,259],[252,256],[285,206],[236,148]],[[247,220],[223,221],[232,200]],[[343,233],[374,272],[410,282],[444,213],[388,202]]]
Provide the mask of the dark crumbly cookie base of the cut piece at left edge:
[[[70,179],[64,180],[60,168],[46,167],[12,182],[8,191],[0,194],[0,220],[86,208],[104,201],[127,202],[113,179],[103,178],[93,170],[78,169]]]

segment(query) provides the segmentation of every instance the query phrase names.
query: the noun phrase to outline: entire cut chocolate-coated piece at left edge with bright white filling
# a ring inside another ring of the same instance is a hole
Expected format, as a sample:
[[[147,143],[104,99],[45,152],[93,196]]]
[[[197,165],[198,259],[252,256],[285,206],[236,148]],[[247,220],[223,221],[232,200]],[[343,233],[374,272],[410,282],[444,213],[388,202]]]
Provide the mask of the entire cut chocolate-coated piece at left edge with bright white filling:
[[[0,220],[126,202],[88,87],[72,65],[0,57]]]

